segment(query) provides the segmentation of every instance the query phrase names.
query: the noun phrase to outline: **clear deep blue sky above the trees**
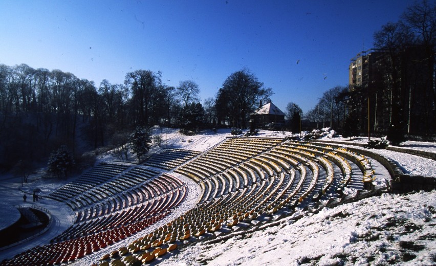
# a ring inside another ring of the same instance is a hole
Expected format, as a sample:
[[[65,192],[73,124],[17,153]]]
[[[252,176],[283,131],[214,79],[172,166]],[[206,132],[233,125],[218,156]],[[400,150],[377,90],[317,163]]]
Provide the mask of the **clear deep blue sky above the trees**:
[[[162,71],[167,85],[197,82],[201,102],[247,68],[283,111],[295,102],[307,112],[347,84],[350,59],[414,2],[3,0],[0,63],[60,69],[97,86]]]

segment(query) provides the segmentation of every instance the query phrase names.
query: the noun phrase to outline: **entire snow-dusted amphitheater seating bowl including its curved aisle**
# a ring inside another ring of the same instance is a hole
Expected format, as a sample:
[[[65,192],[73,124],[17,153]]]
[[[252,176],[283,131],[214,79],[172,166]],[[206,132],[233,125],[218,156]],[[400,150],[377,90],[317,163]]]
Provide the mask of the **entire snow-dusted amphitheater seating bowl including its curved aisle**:
[[[227,135],[205,150],[179,147],[142,164],[103,160],[42,189],[39,205],[57,230],[2,249],[0,265],[158,264],[198,242],[261,230],[296,209],[380,194],[394,174],[391,161],[368,150],[326,142]],[[35,245],[38,238],[46,241]]]

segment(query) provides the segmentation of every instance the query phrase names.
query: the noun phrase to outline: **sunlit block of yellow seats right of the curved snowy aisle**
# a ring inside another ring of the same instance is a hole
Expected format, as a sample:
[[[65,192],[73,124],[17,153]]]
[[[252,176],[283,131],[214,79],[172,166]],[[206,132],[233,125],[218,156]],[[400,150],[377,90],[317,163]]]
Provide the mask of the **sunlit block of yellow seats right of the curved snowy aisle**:
[[[356,167],[352,167],[361,162],[368,161],[346,149],[311,143],[227,140],[175,170],[201,186],[202,195],[195,208],[136,239],[126,248],[126,254],[116,258],[106,255],[99,263],[126,257],[145,263],[157,258],[150,254],[156,253],[158,247],[168,248],[174,243],[181,246],[190,238],[201,239],[223,228],[247,226],[259,215],[271,215],[285,207],[292,209],[315,199],[316,194],[325,199],[338,196],[336,188],[339,184],[346,186],[350,176],[360,176],[360,182],[364,181],[366,170],[355,172]],[[156,243],[159,246],[154,246]]]

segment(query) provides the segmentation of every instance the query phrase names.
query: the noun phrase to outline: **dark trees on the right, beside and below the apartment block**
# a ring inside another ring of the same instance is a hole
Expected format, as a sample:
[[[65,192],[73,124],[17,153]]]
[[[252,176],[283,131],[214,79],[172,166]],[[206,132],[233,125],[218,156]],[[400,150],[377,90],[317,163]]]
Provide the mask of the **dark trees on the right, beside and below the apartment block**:
[[[434,137],[436,4],[409,6],[374,33],[369,82],[335,86],[303,116],[306,128],[333,127],[346,136]],[[294,116],[294,103],[287,106]],[[299,112],[302,115],[302,112]]]

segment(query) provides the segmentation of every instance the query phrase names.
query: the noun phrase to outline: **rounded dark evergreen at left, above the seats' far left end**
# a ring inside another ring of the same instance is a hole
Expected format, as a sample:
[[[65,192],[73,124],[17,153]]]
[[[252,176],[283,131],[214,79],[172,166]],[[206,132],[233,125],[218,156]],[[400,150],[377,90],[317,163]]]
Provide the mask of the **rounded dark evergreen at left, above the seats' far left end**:
[[[48,172],[56,175],[58,178],[61,178],[62,175],[67,178],[67,172],[72,170],[74,164],[73,154],[70,149],[62,145],[50,154]]]

